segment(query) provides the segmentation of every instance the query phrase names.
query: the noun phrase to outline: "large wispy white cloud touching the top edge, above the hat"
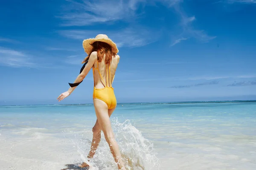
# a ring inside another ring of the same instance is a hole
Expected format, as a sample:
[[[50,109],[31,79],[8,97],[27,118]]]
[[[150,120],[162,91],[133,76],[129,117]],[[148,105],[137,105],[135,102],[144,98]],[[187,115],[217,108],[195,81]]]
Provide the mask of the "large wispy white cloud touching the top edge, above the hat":
[[[61,26],[88,26],[95,23],[112,22],[116,20],[135,20],[140,5],[164,3],[173,6],[180,0],[66,0],[63,14],[57,16],[64,23]]]

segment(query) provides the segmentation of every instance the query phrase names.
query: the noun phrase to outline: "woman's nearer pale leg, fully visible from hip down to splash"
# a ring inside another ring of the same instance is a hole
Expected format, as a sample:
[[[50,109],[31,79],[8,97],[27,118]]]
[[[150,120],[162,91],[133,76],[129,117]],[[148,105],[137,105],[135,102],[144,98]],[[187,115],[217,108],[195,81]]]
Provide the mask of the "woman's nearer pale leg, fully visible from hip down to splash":
[[[125,170],[124,163],[122,161],[121,153],[119,151],[118,144],[114,138],[114,133],[111,127],[111,122],[108,115],[108,106],[100,99],[93,99],[94,108],[99,125],[104,133],[105,139],[108,142],[111,153],[117,163],[119,170]],[[113,112],[113,111],[112,111]]]

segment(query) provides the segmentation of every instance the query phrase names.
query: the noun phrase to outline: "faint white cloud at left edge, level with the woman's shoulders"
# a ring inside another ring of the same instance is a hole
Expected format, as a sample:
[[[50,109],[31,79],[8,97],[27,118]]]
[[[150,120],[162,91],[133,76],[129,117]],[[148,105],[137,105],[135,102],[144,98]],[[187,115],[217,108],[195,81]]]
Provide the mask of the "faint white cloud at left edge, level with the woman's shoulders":
[[[0,48],[0,64],[10,67],[35,67],[31,57],[20,51]]]

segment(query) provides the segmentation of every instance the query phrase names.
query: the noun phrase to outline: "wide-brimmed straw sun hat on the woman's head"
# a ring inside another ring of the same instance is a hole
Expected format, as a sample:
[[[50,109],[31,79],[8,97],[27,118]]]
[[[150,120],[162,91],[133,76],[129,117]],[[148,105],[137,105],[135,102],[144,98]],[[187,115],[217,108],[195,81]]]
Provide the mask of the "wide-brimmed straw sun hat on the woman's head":
[[[86,40],[83,41],[84,51],[87,54],[89,54],[90,51],[93,49],[93,46],[90,45],[90,44],[92,44],[93,42],[96,42],[96,41],[101,41],[101,42],[108,43],[109,45],[111,45],[111,47],[113,49],[113,52],[116,53],[116,54],[118,53],[116,43],[114,43],[110,38],[108,38],[107,35],[98,34],[95,38],[89,38],[89,39],[86,39]]]

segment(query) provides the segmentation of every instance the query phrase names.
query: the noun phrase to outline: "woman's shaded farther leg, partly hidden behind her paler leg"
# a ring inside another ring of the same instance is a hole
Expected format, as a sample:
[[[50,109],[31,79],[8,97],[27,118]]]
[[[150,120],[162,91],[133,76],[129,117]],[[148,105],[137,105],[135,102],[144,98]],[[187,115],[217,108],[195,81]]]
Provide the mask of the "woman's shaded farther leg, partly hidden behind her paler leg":
[[[113,109],[108,109],[108,116],[110,117],[113,113],[113,111],[115,110],[115,108]],[[96,149],[97,147],[99,146],[99,142],[101,140],[101,128],[100,128],[100,125],[99,125],[99,122],[98,122],[98,119],[96,120],[96,123],[95,125],[93,126],[93,140],[92,140],[92,144],[91,144],[91,147],[90,147],[90,152],[87,156],[87,158],[90,160],[93,158],[95,152],[96,152]],[[88,161],[89,161],[88,160]],[[89,165],[85,162],[83,162],[80,167],[88,167]]]

